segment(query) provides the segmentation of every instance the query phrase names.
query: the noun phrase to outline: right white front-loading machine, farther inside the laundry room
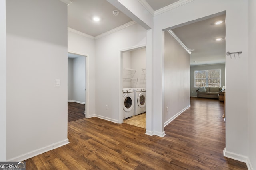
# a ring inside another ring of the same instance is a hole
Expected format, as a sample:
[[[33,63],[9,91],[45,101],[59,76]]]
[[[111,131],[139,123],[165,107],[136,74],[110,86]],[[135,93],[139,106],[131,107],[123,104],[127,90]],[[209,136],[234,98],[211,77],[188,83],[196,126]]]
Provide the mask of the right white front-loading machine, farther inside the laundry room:
[[[134,115],[146,112],[146,88],[134,88]]]

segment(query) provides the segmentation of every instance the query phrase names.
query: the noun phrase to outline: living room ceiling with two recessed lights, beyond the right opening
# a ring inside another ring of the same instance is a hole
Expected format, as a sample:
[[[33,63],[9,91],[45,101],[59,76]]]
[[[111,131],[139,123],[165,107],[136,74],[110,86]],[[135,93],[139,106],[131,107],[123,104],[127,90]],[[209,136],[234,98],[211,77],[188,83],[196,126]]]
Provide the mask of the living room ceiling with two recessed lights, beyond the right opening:
[[[216,21],[223,21],[216,25]],[[225,63],[225,14],[172,29],[188,49],[190,65]],[[222,38],[221,41],[216,41]],[[196,61],[196,62],[194,62]]]

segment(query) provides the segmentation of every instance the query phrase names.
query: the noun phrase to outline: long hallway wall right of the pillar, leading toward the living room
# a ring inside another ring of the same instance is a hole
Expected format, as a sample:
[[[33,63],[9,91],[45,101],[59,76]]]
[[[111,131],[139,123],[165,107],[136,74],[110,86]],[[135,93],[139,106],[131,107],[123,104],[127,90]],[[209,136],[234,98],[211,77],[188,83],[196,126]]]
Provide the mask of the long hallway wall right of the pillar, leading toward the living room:
[[[170,122],[190,106],[190,55],[165,31],[164,122]],[[168,112],[167,108],[168,107]]]

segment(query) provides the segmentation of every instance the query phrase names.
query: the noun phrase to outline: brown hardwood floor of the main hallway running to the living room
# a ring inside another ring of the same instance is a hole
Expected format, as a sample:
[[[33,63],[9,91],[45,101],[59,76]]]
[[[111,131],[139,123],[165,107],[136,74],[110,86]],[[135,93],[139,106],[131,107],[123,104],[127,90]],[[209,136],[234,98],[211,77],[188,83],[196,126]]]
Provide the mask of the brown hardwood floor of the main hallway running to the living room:
[[[246,170],[225,158],[223,103],[191,98],[191,107],[165,127],[166,136],[96,117],[68,123],[70,144],[26,161],[27,170]]]

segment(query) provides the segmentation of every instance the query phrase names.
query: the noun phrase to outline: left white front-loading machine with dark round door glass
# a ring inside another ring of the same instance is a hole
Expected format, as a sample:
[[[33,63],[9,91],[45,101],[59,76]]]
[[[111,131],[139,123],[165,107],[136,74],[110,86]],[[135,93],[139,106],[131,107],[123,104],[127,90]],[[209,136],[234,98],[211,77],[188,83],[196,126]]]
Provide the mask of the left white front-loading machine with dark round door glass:
[[[123,115],[124,119],[134,115],[134,90],[130,88],[123,89]]]

